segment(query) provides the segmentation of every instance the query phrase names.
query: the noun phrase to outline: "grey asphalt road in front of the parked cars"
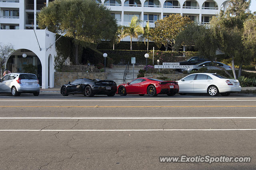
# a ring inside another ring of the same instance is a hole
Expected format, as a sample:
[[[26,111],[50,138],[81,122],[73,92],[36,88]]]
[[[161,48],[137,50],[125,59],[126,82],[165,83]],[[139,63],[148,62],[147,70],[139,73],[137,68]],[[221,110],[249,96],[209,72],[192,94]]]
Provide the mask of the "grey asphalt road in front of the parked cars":
[[[0,95],[0,169],[255,169],[256,95]],[[160,163],[159,156],[250,156]]]

